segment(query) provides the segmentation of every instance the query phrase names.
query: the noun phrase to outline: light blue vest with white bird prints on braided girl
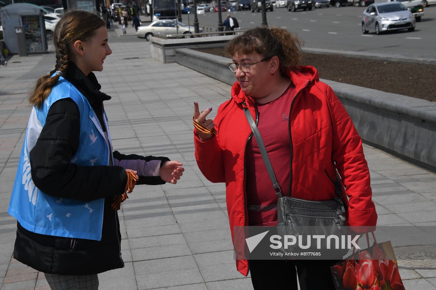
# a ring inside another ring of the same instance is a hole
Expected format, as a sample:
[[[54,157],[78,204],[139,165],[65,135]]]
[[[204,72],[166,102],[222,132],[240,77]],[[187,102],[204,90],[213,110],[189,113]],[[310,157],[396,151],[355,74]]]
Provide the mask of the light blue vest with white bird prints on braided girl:
[[[55,198],[41,192],[32,181],[29,152],[44,127],[51,105],[63,98],[75,101],[80,111],[79,147],[70,163],[78,166],[113,164],[112,148],[106,142],[97,115],[85,96],[61,77],[41,108],[32,108],[8,212],[21,226],[34,233],[99,241],[104,198],[89,202]],[[108,128],[106,113],[104,117]],[[109,129],[107,134],[110,141]]]

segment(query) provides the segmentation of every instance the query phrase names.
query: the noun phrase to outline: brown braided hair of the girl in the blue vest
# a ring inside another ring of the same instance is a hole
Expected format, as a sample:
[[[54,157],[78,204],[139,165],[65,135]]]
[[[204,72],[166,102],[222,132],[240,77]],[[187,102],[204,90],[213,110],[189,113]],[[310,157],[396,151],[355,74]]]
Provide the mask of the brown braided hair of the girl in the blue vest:
[[[95,30],[102,26],[106,26],[106,22],[94,13],[80,10],[65,12],[54,29],[55,70],[65,74],[68,69],[68,62],[71,61],[69,45],[76,40],[89,41],[95,34]],[[58,80],[59,74],[55,74],[52,78],[50,74],[39,78],[30,93],[30,103],[37,108],[41,108]]]

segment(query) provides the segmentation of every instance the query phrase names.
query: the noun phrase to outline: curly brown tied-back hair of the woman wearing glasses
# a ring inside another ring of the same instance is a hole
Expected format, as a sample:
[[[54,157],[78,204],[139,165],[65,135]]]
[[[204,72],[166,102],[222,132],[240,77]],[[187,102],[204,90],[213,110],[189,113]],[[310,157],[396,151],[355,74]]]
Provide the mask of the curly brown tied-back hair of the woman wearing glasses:
[[[284,28],[255,27],[230,40],[225,52],[230,56],[253,52],[268,58],[277,56],[280,73],[286,75],[287,69],[303,60],[303,43],[300,37]]]

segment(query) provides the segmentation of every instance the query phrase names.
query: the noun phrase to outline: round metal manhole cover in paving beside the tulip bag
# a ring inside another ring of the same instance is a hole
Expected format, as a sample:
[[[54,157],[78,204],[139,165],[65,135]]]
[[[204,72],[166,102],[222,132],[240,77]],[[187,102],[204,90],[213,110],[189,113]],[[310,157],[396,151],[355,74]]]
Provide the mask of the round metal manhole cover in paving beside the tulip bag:
[[[403,269],[436,269],[436,245],[394,247],[398,267]]]

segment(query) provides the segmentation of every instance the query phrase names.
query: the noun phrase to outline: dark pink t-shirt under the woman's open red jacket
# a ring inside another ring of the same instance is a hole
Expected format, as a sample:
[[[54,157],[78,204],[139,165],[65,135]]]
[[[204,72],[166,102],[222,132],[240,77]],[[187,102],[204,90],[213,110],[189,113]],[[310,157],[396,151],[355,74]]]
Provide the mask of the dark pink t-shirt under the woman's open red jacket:
[[[289,110],[294,97],[295,86],[290,84],[276,100],[266,104],[256,104],[259,112],[259,132],[283,196],[287,196],[289,190],[291,144],[288,126]],[[275,226],[277,195],[254,136],[247,146],[245,160],[249,225]]]

